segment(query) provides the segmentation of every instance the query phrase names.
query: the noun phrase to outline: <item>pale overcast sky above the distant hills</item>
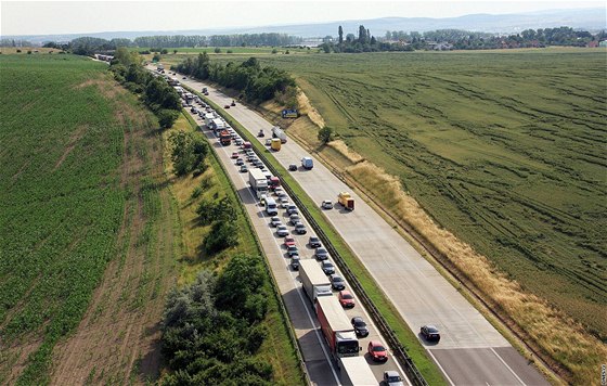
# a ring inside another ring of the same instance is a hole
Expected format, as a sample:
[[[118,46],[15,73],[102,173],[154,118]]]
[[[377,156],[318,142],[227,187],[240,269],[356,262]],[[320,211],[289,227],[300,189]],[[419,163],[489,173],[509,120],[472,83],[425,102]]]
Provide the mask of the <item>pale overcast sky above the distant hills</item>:
[[[0,1],[0,35],[186,30],[605,8],[603,1]]]

